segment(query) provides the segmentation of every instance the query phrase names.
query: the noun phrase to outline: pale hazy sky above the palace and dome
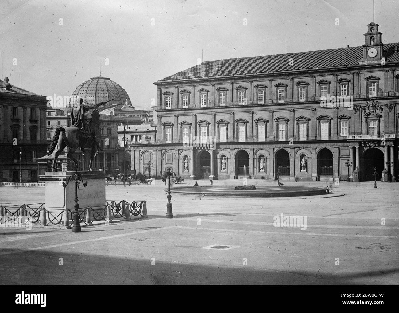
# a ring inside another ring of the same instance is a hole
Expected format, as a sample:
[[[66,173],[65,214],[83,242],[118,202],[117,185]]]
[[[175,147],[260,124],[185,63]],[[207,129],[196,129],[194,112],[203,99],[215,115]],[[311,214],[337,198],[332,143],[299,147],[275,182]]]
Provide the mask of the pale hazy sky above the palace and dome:
[[[399,42],[398,12],[375,0],[383,43]],[[361,46],[372,21],[372,0],[0,0],[0,73],[70,96],[101,63],[146,109],[155,81],[198,62]]]

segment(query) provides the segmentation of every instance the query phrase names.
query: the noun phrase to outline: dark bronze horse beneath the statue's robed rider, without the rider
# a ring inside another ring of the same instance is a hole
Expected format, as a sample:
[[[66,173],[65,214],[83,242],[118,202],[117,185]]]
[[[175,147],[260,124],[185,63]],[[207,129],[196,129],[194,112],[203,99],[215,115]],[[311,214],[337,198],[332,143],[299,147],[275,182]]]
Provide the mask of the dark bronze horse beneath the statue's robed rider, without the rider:
[[[93,129],[98,129],[100,128],[100,113],[98,110],[93,110],[91,119],[89,122],[89,125]],[[91,149],[91,154],[90,154],[90,164],[89,164],[89,170],[91,170],[91,167],[93,165],[93,159],[95,155],[97,154],[98,151],[103,151],[101,147],[99,147],[98,141],[95,136],[95,134],[91,134],[91,137],[85,136],[83,138],[78,138],[79,137],[79,129],[77,127],[59,127],[55,131],[53,140],[51,141],[50,149],[48,152],[48,155],[51,155],[53,153],[55,147],[58,145],[58,150],[55,152],[54,160],[53,160],[53,171],[56,172],[55,168],[55,161],[57,160],[58,156],[61,154],[61,152],[65,149],[65,147],[69,147],[69,151],[67,153],[68,158],[73,160],[75,163],[75,170],[77,170],[77,160],[73,157],[73,153],[76,151],[77,148],[81,148],[82,152],[85,152],[85,148],[90,148]],[[89,138],[87,138],[89,137]]]

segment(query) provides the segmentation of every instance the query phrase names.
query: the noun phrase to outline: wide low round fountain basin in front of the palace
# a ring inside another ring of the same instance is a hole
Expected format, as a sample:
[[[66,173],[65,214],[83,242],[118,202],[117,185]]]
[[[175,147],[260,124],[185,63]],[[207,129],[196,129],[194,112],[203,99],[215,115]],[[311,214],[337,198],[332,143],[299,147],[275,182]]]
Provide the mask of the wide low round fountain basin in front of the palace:
[[[166,191],[167,189],[165,189]],[[225,197],[297,197],[326,194],[327,188],[315,186],[256,186],[256,190],[235,190],[235,186],[178,186],[172,194]]]

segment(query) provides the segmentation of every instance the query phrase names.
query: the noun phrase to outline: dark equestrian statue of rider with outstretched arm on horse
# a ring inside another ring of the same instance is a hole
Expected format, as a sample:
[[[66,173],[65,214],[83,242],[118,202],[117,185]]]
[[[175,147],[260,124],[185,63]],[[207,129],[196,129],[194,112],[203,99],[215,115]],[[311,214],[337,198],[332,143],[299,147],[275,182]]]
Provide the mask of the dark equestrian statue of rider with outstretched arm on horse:
[[[113,99],[109,101],[112,100]],[[76,151],[76,149],[81,148],[82,152],[85,152],[84,149],[91,149],[89,164],[89,170],[91,170],[94,157],[97,155],[98,151],[103,151],[98,142],[98,140],[101,138],[100,113],[98,110],[96,110],[96,108],[100,105],[106,104],[107,102],[99,102],[94,105],[88,105],[83,103],[82,98],[79,99],[79,104],[77,101],[75,102],[75,105],[71,111],[71,127],[58,127],[55,131],[53,140],[51,141],[50,150],[47,155],[51,155],[55,147],[58,146],[58,150],[55,152],[53,160],[53,172],[57,171],[55,168],[55,161],[65,147],[69,148],[67,157],[73,160],[75,163],[75,170],[77,170],[78,166],[77,160],[73,157],[73,153]],[[92,111],[91,117],[89,117],[87,114],[85,115],[85,111],[91,109],[94,109]]]

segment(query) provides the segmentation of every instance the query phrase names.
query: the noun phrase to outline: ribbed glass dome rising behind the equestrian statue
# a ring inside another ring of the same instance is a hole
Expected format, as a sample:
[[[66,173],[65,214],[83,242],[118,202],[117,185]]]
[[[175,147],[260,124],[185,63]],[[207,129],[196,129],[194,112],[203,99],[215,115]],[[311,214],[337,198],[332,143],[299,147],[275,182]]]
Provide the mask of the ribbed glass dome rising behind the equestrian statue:
[[[110,105],[124,105],[126,99],[131,103],[128,94],[119,84],[101,75],[81,83],[72,94],[70,106],[79,98],[83,98],[89,105],[115,98],[106,105],[101,105],[99,109]]]

